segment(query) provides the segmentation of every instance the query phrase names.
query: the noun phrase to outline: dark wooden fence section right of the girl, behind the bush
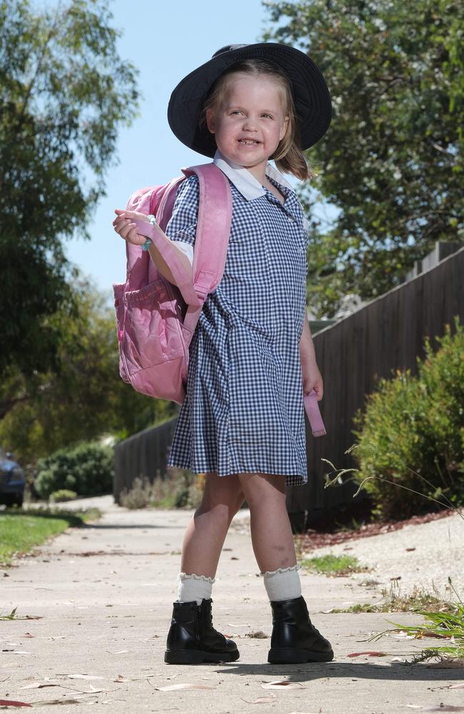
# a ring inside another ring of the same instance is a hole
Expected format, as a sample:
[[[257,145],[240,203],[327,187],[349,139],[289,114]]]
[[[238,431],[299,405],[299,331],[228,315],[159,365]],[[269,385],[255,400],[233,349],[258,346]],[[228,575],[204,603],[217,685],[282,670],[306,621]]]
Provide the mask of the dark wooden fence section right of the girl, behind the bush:
[[[324,378],[321,413],[327,436],[307,431],[308,483],[288,488],[287,507],[298,530],[353,505],[352,484],[323,488],[328,458],[337,468],[355,463],[353,416],[380,377],[396,369],[415,372],[425,336],[443,335],[455,315],[464,322],[464,248],[314,336]],[[434,341],[432,340],[434,346]]]

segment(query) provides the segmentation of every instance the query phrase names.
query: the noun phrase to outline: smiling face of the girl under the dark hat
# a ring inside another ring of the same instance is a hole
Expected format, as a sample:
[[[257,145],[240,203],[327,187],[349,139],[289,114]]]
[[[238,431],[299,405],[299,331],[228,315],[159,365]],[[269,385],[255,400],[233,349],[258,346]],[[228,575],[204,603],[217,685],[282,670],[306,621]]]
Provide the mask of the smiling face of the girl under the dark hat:
[[[286,134],[282,91],[271,77],[234,74],[221,104],[206,111],[206,122],[226,159],[249,169],[262,183],[266,163]]]

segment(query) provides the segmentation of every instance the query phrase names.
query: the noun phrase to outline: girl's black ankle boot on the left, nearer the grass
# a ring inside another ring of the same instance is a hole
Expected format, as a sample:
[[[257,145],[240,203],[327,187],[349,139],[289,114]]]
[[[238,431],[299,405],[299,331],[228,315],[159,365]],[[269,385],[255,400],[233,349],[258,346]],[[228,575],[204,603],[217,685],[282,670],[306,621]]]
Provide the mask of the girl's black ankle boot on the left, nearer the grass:
[[[201,605],[196,601],[173,604],[165,662],[189,665],[238,660],[240,653],[236,643],[213,628],[212,602],[210,599],[201,600]]]

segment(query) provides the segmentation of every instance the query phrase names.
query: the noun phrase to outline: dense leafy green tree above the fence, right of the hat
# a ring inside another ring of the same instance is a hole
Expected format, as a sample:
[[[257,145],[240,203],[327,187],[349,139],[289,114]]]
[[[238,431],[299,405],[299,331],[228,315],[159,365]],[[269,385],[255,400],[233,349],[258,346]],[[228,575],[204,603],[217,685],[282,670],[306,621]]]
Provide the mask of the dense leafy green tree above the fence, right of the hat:
[[[331,128],[308,152],[316,191],[302,192],[308,297],[331,316],[343,294],[373,298],[397,285],[435,241],[464,240],[464,4],[265,6],[266,39],[308,51],[331,91]],[[321,198],[338,209],[328,223],[315,211]]]

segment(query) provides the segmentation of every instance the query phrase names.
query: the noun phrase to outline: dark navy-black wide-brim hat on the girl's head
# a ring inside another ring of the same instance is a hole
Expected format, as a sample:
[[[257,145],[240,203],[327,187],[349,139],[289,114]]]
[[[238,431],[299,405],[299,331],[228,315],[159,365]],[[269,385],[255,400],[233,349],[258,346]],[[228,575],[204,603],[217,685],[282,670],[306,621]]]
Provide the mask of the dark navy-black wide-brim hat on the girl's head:
[[[182,79],[171,94],[168,122],[182,144],[203,156],[214,156],[216,141],[198,120],[216,79],[244,59],[263,59],[278,65],[291,84],[300,129],[301,149],[309,149],[326,133],[332,105],[326,80],[311,57],[288,45],[273,42],[230,45]]]

